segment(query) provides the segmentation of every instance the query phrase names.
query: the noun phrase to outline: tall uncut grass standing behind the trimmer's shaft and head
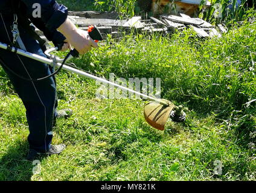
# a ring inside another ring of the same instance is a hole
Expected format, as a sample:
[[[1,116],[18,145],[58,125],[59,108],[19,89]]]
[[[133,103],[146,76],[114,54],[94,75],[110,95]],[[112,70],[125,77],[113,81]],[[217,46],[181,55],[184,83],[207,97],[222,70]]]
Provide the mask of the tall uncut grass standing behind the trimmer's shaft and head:
[[[105,77],[110,72],[124,78],[159,77],[163,98],[202,116],[214,113],[249,136],[256,125],[256,24],[232,28],[219,39],[202,40],[192,30],[169,38],[128,36],[84,56],[82,63],[94,63],[86,70]]]

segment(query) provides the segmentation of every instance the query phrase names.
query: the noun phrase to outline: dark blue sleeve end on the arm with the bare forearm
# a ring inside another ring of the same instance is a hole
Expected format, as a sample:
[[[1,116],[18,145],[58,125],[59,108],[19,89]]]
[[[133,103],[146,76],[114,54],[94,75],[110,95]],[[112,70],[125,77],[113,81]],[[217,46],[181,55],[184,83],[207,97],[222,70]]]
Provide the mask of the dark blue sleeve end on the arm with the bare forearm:
[[[33,16],[34,4],[40,4],[41,16],[39,19],[49,31],[56,30],[68,17],[68,8],[59,5],[55,0],[21,0],[27,6],[28,15]]]

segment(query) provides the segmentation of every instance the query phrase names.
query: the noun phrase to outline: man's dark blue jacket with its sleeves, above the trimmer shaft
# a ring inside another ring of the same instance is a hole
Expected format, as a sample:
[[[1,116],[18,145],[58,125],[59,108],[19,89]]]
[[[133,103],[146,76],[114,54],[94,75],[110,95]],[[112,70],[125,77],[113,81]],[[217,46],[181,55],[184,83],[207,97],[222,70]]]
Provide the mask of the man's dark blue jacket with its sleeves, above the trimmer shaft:
[[[11,1],[14,3],[12,4]],[[34,18],[33,5],[40,4],[41,17]],[[59,5],[55,0],[0,0],[0,11],[12,11],[18,8],[18,11],[37,27],[43,31],[45,37],[53,41],[54,44],[62,43],[65,37],[56,29],[65,22],[68,16],[68,8]],[[10,14],[10,17],[13,17]]]

